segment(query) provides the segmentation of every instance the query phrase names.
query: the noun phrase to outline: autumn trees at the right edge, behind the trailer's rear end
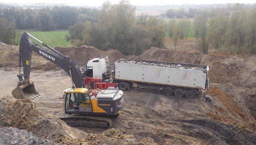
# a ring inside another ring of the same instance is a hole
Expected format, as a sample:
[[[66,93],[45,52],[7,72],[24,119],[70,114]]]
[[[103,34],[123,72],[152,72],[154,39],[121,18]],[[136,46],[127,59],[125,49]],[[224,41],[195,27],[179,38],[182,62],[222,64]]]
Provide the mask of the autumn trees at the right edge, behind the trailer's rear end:
[[[186,38],[190,20],[168,21],[168,36],[174,40],[174,49],[179,39]],[[256,54],[256,6],[227,4],[214,10],[197,10],[192,19],[198,48],[208,54],[211,44],[218,52]]]

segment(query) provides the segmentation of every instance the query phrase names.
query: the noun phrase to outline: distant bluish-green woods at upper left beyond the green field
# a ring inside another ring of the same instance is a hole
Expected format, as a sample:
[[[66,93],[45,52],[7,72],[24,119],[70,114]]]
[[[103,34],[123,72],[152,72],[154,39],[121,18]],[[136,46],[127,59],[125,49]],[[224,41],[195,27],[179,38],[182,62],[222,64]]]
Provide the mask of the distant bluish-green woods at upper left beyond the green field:
[[[96,22],[97,9],[54,6],[53,8],[3,8],[0,18],[14,22],[18,30],[67,30],[76,22]]]

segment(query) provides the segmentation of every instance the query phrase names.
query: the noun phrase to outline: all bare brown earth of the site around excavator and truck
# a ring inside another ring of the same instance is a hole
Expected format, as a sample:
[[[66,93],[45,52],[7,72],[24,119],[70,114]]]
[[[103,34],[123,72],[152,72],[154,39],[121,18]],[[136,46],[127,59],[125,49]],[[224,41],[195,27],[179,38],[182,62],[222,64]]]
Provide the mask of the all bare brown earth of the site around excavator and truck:
[[[104,52],[91,46],[56,48],[79,66],[94,56],[109,56],[112,63],[120,58],[134,58],[212,66],[211,88],[204,92],[211,97],[188,100],[133,88],[124,91],[124,111],[112,118],[112,128],[102,130],[75,129],[55,118],[63,113],[62,92],[71,86],[71,80],[64,71],[36,54],[30,79],[43,98],[17,101],[11,91],[18,82],[18,47],[0,43],[0,50],[1,127],[26,129],[62,144],[256,144],[256,56],[203,55],[158,48],[150,48],[140,56],[123,56],[116,50]]]

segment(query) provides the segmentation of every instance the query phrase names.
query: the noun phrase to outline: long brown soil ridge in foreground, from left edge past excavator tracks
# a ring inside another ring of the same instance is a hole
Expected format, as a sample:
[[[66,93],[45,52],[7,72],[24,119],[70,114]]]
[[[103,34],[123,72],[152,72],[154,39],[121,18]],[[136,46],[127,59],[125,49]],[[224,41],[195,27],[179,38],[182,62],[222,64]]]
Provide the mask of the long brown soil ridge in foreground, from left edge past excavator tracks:
[[[64,145],[91,145],[91,144],[109,144],[109,145],[156,145],[154,140],[150,137],[137,140],[134,135],[124,134],[116,129],[108,129],[99,134],[86,133],[79,129],[72,128],[64,121],[48,117],[43,117],[36,109],[32,99],[17,99],[15,103],[7,103],[0,100],[3,107],[0,110],[1,121],[0,126],[15,127],[18,129],[25,129],[23,134],[15,133],[17,129],[8,129],[6,127],[0,128],[4,131],[1,138],[4,140],[3,144],[15,144],[17,141],[30,143],[50,143],[41,138],[47,139],[54,143],[61,143]],[[5,131],[8,130],[8,133]],[[35,135],[32,135],[34,133]],[[13,139],[8,140],[9,135],[14,135]],[[20,136],[21,135],[21,136]],[[53,144],[53,143],[51,143]]]

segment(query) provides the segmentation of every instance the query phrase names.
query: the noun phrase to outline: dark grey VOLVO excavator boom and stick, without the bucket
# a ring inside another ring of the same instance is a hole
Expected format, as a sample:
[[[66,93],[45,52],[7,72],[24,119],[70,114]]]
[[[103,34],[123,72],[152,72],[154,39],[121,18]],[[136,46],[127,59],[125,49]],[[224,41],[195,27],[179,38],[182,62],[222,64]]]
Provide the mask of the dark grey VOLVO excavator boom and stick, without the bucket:
[[[28,36],[31,35],[27,32],[24,32],[20,39],[19,47],[25,81],[29,81],[30,79],[32,52],[36,52],[40,56],[44,57],[46,60],[49,60],[53,64],[56,64],[56,66],[62,68],[71,77],[76,87],[85,87],[82,73],[80,72],[79,67],[74,63],[74,61],[71,58],[69,58],[68,56],[64,56],[63,54],[60,54],[59,52],[57,52],[53,48],[50,48],[49,46],[48,48],[52,51],[49,51],[39,46],[38,44],[32,43]],[[42,44],[47,46],[45,43]]]

